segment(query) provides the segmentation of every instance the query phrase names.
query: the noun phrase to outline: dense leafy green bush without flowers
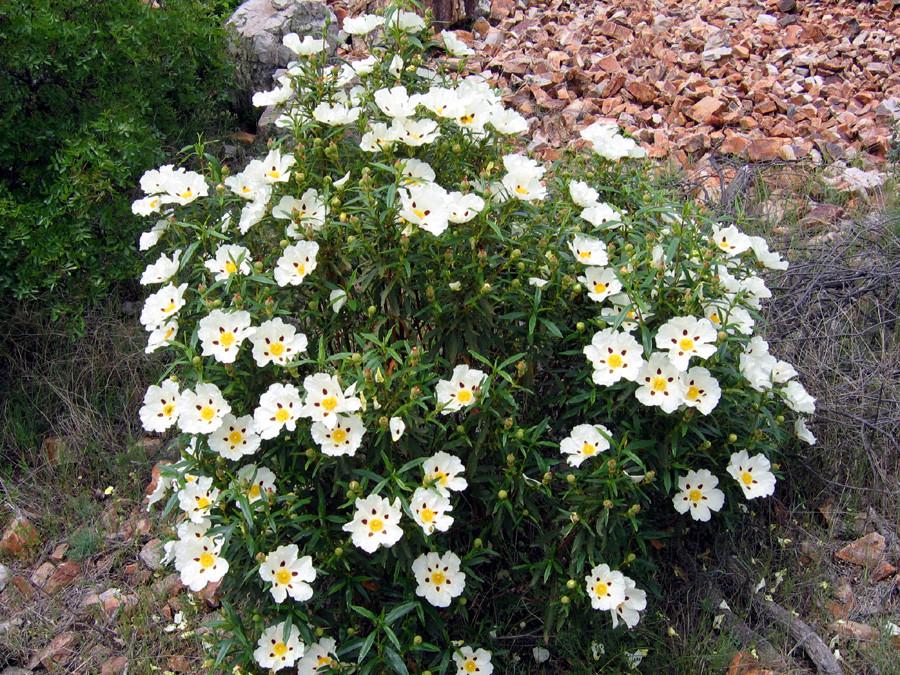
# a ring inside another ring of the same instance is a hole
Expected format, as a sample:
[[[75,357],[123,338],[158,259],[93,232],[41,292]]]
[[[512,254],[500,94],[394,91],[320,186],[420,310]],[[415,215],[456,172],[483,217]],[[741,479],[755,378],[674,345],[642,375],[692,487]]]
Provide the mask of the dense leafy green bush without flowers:
[[[200,0],[0,3],[0,294],[78,315],[132,278],[126,191],[217,128],[230,73]]]

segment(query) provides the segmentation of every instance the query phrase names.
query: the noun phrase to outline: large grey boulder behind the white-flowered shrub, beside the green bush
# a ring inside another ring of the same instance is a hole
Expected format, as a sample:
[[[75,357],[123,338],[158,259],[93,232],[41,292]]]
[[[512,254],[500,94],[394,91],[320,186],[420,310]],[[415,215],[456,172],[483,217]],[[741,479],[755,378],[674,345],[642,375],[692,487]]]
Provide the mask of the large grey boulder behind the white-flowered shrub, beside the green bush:
[[[277,69],[296,59],[281,42],[285,35],[321,38],[325,32],[329,54],[334,54],[337,45],[337,17],[318,0],[247,0],[225,25],[236,64],[236,102],[244,108],[249,108],[255,92],[272,88]]]

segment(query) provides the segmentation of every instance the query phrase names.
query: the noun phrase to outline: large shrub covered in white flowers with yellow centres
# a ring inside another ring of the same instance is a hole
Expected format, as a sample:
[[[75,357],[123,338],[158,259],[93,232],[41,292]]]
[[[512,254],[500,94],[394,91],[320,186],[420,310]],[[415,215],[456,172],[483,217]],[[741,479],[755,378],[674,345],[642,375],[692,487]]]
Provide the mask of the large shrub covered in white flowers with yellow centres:
[[[613,126],[529,159],[484,80],[424,67],[468,48],[420,16],[345,30],[368,58],[285,38],[265,158],[201,148],[134,204],[172,355],[141,417],[183,434],[150,501],[184,583],[222,584],[216,669],[487,675],[512,623],[633,628],[651,540],[771,495],[813,441],[753,335],[784,263],[650,190]]]

